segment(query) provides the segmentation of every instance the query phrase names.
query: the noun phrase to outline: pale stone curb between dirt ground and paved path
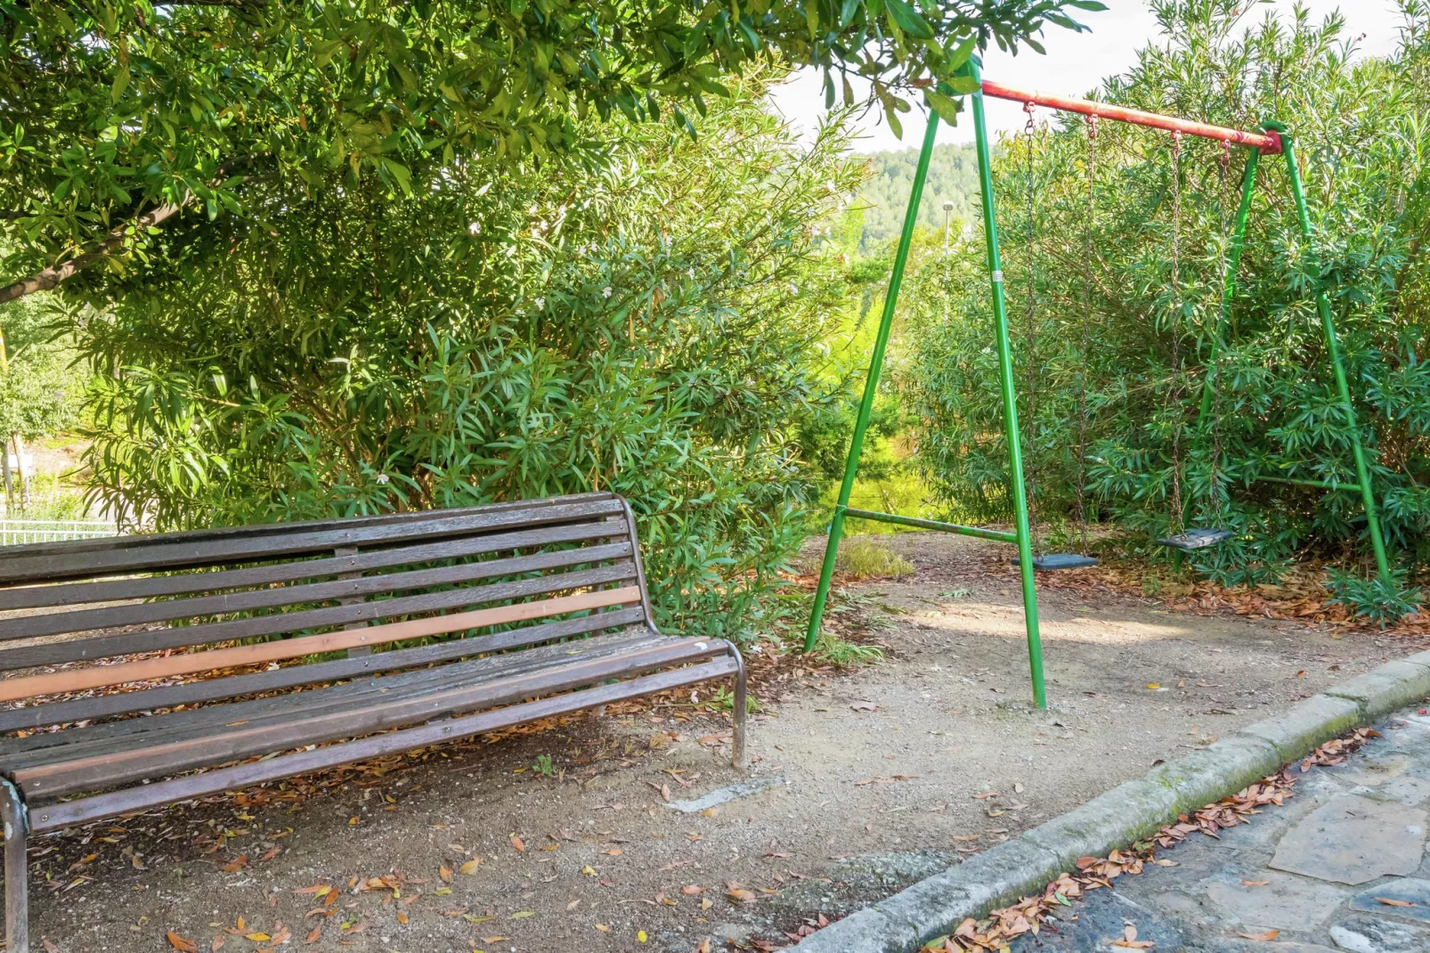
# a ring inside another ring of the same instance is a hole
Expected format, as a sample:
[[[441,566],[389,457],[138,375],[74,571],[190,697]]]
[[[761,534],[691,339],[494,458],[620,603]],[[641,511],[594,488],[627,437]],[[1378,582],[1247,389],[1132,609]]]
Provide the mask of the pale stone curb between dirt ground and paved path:
[[[872,903],[794,949],[917,953],[965,917],[981,917],[1041,890],[1078,857],[1105,857],[1177,814],[1234,794],[1317,746],[1426,697],[1430,653],[1386,663]]]

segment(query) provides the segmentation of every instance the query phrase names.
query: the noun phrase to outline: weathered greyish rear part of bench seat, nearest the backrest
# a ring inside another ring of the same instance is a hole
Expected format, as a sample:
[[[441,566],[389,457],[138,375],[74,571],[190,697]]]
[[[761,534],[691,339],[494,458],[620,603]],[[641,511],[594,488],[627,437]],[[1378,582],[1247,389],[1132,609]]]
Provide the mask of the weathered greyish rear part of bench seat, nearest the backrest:
[[[110,756],[173,741],[222,735],[239,725],[245,725],[246,730],[265,724],[282,728],[327,713],[353,714],[366,705],[389,704],[395,700],[419,698],[452,688],[511,680],[541,668],[566,665],[578,658],[609,658],[648,647],[669,645],[674,641],[646,630],[635,630],[573,642],[553,642],[525,651],[483,655],[380,678],[356,678],[307,691],[277,693],[245,701],[203,705],[142,718],[123,718],[63,731],[40,731],[24,738],[0,740],[0,767],[6,773],[11,773],[57,761]],[[210,761],[210,764],[213,763]]]

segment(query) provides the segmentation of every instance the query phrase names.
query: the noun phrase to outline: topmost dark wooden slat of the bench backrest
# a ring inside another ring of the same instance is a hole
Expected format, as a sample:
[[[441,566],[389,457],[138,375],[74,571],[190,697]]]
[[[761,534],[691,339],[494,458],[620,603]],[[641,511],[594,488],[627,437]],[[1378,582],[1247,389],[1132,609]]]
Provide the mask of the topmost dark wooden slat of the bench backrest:
[[[438,517],[406,524],[339,524],[313,532],[279,532],[263,537],[149,542],[127,549],[53,552],[36,557],[0,559],[0,584],[33,582],[114,575],[139,570],[176,570],[200,565],[227,565],[246,559],[272,559],[305,552],[327,552],[337,547],[362,547],[392,541],[493,532],[515,527],[595,519],[621,512],[618,499],[593,499],[579,504],[541,505],[529,509],[482,511],[465,517]]]

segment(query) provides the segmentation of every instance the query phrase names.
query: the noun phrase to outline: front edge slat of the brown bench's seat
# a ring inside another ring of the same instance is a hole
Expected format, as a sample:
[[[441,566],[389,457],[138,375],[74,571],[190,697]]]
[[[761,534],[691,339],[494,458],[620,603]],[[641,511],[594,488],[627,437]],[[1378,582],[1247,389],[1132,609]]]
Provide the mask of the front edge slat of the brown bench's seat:
[[[632,678],[609,685],[599,685],[585,691],[542,698],[516,704],[495,711],[466,715],[462,718],[446,718],[416,728],[405,728],[386,734],[372,735],[356,741],[319,747],[312,751],[297,751],[260,761],[236,764],[227,768],[190,774],[156,784],[144,784],[124,788],[110,794],[87,797],[83,800],[66,801],[47,807],[37,807],[30,811],[30,831],[34,834],[61,830],[76,824],[142,811],[162,804],[172,804],[193,797],[207,794],[222,794],[229,790],[239,790],[263,781],[273,781],[296,774],[317,771],[339,764],[352,764],[369,758],[383,757],[396,751],[408,751],[442,741],[468,738],[489,731],[499,731],[529,721],[539,721],[552,715],[581,711],[602,704],[638,698],[656,691],[666,691],[681,685],[691,685],[711,678],[734,675],[738,664],[734,658],[724,657],[699,665],[675,668],[655,675]]]

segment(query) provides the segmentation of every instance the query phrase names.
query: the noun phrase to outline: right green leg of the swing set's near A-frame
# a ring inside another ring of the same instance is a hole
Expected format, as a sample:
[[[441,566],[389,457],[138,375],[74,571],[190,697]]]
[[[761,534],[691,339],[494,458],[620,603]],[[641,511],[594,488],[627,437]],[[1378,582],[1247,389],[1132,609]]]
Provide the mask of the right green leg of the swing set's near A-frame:
[[[981,82],[977,57],[964,67],[975,83]],[[998,255],[998,219],[994,213],[992,163],[988,156],[988,122],[984,119],[982,90],[972,94],[974,143],[978,152],[978,189],[982,193],[984,239],[988,245],[988,272],[992,286],[992,321],[998,346],[998,376],[1002,383],[1002,425],[1008,435],[1008,484],[1018,534],[1018,571],[1022,574],[1022,617],[1028,627],[1028,670],[1032,675],[1032,703],[1048,707],[1042,685],[1042,637],[1038,632],[1038,592],[1032,580],[1032,534],[1028,529],[1028,497],[1022,485],[1022,445],[1018,438],[1018,401],[1012,391],[1012,348],[1008,343],[1008,306],[1002,299],[1002,260]]]

